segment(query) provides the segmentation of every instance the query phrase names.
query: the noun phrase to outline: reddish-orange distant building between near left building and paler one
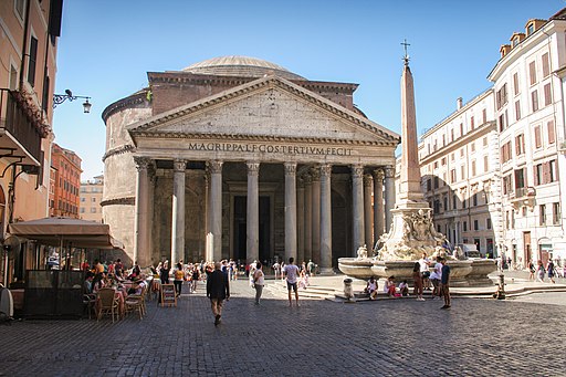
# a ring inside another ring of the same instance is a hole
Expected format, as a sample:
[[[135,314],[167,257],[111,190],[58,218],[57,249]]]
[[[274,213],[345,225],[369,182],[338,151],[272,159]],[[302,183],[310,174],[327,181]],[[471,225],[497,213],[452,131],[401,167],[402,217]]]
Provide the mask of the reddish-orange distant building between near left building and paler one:
[[[53,189],[50,190],[49,214],[78,219],[81,158],[73,150],[54,143],[51,167]]]

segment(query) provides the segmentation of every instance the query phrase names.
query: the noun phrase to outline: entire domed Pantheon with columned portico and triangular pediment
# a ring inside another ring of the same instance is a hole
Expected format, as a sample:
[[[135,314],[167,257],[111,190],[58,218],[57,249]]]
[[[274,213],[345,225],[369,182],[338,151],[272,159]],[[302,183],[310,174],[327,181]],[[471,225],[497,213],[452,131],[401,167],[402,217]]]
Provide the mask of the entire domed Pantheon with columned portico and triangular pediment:
[[[389,228],[400,137],[354,105],[357,84],[245,56],[147,76],[103,113],[103,218],[129,262],[325,271]]]

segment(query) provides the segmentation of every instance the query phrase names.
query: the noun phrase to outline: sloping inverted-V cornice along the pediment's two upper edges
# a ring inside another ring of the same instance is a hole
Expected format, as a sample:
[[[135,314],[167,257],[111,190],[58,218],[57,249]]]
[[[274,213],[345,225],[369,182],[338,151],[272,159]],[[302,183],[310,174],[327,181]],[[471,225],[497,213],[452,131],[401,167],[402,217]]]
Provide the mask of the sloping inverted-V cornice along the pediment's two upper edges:
[[[202,111],[205,108],[208,108],[210,106],[220,104],[222,102],[226,102],[228,100],[232,100],[234,97],[243,96],[247,94],[250,94],[252,92],[255,92],[261,88],[270,88],[270,87],[280,87],[283,88],[297,97],[301,97],[312,104],[317,105],[321,108],[324,108],[328,113],[332,113],[343,119],[347,119],[357,126],[365,128],[366,130],[371,132],[373,134],[377,134],[390,142],[396,142],[397,144],[400,143],[400,136],[392,133],[387,132],[385,128],[376,127],[369,122],[367,122],[364,117],[356,114],[355,112],[352,112],[345,107],[342,107],[340,105],[316,94],[312,93],[308,90],[293,84],[292,82],[276,77],[276,76],[268,76],[260,80],[255,80],[254,82],[248,83],[247,85],[242,85],[240,87],[231,88],[223,91],[217,95],[197,101],[190,105],[181,106],[178,108],[175,108],[172,111],[163,113],[160,115],[154,116],[153,118],[139,122],[132,127],[129,127],[129,132],[135,135],[140,135],[140,132],[148,130],[150,128],[155,128],[164,123],[167,123],[169,121],[174,121],[179,117],[184,117],[190,114],[195,114],[199,111]]]

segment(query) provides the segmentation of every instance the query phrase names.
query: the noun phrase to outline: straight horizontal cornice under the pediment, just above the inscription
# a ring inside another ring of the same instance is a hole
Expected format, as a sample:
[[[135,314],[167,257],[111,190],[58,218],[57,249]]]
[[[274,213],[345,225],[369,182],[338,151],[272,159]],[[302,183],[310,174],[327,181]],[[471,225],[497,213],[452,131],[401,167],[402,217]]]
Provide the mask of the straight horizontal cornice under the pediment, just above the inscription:
[[[339,144],[339,145],[360,145],[360,146],[397,146],[397,140],[348,140],[348,139],[333,139],[329,137],[315,138],[315,137],[287,137],[274,135],[242,135],[242,134],[193,134],[193,133],[170,133],[170,132],[132,132],[138,138],[160,138],[160,139],[197,139],[197,140],[240,140],[240,142],[287,142],[287,143],[316,143],[316,144]],[[129,150],[128,150],[129,151]],[[117,153],[117,151],[116,151]],[[113,154],[116,154],[113,153]],[[109,154],[109,151],[107,153]],[[105,155],[106,156],[106,155]],[[107,157],[107,156],[106,156]]]

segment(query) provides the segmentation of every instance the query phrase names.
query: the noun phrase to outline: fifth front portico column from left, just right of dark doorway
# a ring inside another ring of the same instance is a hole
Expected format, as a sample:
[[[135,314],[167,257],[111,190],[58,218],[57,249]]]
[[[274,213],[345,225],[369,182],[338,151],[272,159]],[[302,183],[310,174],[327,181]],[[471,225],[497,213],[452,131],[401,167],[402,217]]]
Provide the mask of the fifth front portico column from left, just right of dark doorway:
[[[285,163],[285,259],[293,256],[296,264],[296,163]]]

